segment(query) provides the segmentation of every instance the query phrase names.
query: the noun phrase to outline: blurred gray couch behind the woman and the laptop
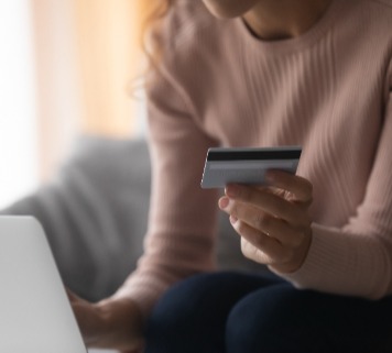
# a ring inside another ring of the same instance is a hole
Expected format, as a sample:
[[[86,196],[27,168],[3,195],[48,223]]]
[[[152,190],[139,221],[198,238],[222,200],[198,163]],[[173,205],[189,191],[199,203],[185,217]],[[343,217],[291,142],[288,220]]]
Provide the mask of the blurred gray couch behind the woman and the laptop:
[[[43,224],[67,287],[89,300],[112,294],[142,253],[150,197],[143,139],[83,136],[56,176],[0,213],[32,214]],[[246,260],[220,214],[221,269],[265,271]]]

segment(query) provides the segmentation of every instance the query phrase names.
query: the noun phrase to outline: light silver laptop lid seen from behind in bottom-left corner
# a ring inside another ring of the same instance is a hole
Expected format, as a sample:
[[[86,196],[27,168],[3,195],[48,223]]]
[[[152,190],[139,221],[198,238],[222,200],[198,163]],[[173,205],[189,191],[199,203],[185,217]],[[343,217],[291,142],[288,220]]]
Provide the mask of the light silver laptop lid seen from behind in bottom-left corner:
[[[0,217],[0,352],[87,352],[44,231],[32,217]]]

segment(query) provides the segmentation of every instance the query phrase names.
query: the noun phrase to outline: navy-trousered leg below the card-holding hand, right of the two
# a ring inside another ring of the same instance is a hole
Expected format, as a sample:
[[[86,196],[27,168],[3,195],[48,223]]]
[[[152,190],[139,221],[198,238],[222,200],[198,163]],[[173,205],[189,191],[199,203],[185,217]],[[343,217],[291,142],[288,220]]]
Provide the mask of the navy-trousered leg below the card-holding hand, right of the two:
[[[391,318],[392,298],[370,301],[281,284],[249,294],[231,309],[227,352],[390,352]]]

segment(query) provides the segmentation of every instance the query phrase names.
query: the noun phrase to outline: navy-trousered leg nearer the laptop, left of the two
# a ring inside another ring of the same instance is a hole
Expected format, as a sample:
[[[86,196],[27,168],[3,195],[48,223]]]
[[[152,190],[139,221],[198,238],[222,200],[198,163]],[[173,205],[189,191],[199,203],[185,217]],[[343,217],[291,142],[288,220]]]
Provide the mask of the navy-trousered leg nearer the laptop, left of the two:
[[[225,324],[231,308],[247,294],[275,283],[281,279],[213,273],[174,285],[148,321],[145,352],[224,352]],[[184,349],[187,344],[193,350]]]

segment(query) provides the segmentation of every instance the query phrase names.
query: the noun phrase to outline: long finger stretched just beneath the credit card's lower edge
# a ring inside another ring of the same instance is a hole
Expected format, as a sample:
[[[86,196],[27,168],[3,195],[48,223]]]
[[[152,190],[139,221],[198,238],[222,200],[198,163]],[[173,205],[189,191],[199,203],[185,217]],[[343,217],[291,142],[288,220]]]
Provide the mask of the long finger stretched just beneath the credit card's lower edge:
[[[264,189],[242,185],[229,185],[226,188],[226,194],[230,199],[227,209],[238,208],[240,203],[249,203],[261,211],[285,220],[295,228],[308,227],[311,223],[309,217],[303,207],[298,207],[298,205]],[[232,201],[239,203],[231,203]]]

